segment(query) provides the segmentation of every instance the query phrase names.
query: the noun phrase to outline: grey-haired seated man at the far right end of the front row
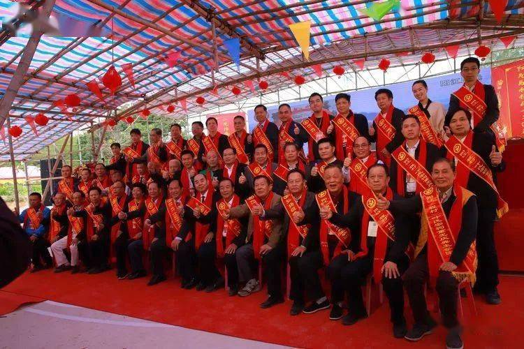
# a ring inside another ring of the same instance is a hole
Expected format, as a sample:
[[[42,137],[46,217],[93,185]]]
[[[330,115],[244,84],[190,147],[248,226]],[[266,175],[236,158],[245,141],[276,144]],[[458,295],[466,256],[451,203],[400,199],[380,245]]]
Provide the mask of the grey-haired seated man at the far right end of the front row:
[[[431,176],[436,188],[429,188],[409,200],[379,198],[377,207],[393,213],[422,214],[415,259],[402,276],[415,320],[405,338],[419,341],[436,325],[425,303],[424,286],[429,278],[431,285],[436,285],[442,322],[449,329],[446,346],[463,348],[457,320],[458,284],[474,282],[476,197],[454,183],[456,170],[453,161],[437,159]]]

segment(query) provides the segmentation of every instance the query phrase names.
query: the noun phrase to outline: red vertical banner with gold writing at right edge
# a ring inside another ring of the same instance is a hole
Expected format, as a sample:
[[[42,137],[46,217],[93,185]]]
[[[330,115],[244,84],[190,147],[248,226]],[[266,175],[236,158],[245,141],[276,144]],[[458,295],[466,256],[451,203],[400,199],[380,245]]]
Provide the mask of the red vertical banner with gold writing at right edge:
[[[499,100],[497,131],[506,139],[524,138],[524,60],[491,69]]]

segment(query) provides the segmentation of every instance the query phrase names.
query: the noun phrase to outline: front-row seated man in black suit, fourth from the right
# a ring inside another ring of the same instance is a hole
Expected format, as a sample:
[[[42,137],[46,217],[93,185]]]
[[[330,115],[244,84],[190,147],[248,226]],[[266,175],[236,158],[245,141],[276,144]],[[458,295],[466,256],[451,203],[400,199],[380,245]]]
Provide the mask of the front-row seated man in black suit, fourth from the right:
[[[287,259],[289,260],[291,290],[289,297],[293,300],[291,315],[298,315],[305,306],[304,291],[305,285],[303,276],[300,275],[298,265],[304,251],[300,248],[307,236],[310,227],[303,225],[299,227],[293,222],[290,214],[294,209],[308,210],[312,205],[316,205],[314,193],[307,191],[305,186],[305,174],[297,168],[287,174],[287,188],[289,194],[282,196],[281,201],[271,209],[263,210],[260,215],[262,220],[284,219],[284,236],[281,243],[287,242]],[[284,249],[282,249],[284,251]]]

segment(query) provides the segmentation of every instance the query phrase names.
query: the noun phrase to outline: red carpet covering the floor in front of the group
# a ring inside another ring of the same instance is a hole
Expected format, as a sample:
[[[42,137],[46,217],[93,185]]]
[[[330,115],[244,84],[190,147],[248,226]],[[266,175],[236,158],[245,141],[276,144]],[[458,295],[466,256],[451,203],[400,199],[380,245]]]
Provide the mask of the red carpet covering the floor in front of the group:
[[[272,309],[260,309],[259,303],[265,299],[265,292],[247,298],[228,297],[223,290],[211,294],[182,290],[178,279],[169,279],[153,287],[147,287],[146,281],[118,281],[113,272],[99,275],[53,274],[50,271],[26,273],[0,291],[0,300],[8,297],[6,293],[10,292],[29,296],[29,299],[41,297],[110,313],[302,348],[340,348],[341,345],[406,348],[408,345],[405,340],[393,339],[387,304],[375,310],[367,320],[345,327],[340,321],[328,320],[328,311],[291,317],[289,301]],[[502,305],[488,306],[477,298],[479,316],[476,318],[470,315],[467,299],[463,299],[464,340],[468,347],[516,346],[524,322],[520,296],[523,287],[524,278],[502,276]],[[445,330],[438,327],[435,334],[412,346],[442,348],[445,334]]]

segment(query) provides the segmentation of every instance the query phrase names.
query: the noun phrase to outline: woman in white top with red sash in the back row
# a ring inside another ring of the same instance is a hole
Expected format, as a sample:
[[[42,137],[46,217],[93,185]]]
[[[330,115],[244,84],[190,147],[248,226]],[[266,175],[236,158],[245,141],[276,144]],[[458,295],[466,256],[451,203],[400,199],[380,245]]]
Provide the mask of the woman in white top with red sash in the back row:
[[[412,85],[413,96],[419,104],[410,107],[407,112],[413,114],[421,121],[421,135],[428,143],[442,147],[448,139],[444,131],[444,105],[433,102],[428,97],[428,84],[424,80],[416,80]]]

